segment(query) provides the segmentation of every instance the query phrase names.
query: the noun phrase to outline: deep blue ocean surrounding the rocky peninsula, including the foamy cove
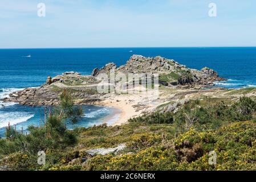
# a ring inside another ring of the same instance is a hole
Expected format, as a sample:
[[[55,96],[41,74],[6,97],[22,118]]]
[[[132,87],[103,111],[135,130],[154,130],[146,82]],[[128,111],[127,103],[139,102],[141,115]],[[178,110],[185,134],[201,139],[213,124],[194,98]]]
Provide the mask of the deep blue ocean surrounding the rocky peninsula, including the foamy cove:
[[[16,90],[44,84],[47,76],[66,71],[90,75],[92,69],[109,62],[123,65],[133,54],[162,56],[174,59],[189,68],[209,67],[228,80],[216,82],[225,88],[256,87],[256,47],[214,48],[47,48],[0,49],[0,98]],[[29,56],[30,55],[30,56]],[[84,117],[74,127],[88,127],[103,123],[105,117],[116,113],[115,109],[101,106],[84,106]],[[0,137],[10,122],[23,126],[39,126],[43,120],[42,107],[0,103]]]

